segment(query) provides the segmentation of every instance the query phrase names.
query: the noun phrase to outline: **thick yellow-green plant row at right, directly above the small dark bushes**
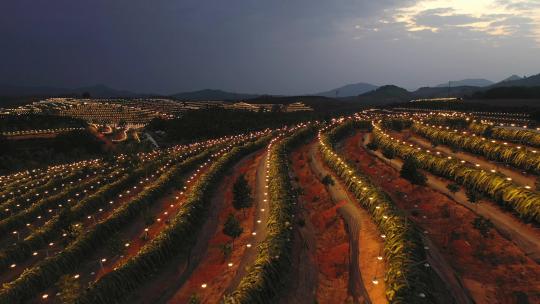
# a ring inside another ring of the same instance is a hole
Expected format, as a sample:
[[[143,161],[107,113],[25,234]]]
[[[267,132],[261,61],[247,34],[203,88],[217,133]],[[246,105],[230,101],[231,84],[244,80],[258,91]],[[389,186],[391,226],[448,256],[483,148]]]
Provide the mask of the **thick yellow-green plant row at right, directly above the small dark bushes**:
[[[448,159],[404,145],[378,128],[373,130],[373,140],[379,147],[393,150],[400,158],[413,157],[426,171],[483,193],[525,220],[540,222],[540,195],[514,184],[500,174],[476,169],[457,159]]]

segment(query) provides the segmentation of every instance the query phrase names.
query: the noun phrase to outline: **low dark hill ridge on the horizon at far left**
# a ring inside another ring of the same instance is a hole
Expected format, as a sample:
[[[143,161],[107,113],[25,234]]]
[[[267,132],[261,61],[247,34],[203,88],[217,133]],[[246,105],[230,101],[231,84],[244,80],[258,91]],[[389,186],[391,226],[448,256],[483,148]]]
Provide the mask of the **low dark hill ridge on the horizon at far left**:
[[[85,92],[88,92],[90,96],[97,98],[141,96],[141,94],[116,90],[101,84],[74,89],[46,86],[0,85],[0,96],[81,96]]]

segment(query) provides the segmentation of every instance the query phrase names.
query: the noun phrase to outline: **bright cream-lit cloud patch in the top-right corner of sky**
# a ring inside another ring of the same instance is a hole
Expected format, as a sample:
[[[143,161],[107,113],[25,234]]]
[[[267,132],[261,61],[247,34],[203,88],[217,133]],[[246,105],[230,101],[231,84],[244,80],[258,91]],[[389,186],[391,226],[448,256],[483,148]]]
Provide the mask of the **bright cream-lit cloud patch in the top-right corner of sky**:
[[[473,33],[477,40],[522,37],[540,45],[540,1],[519,0],[420,0],[385,10],[384,15],[363,20],[366,30],[401,25],[410,33],[453,33],[456,37]],[[382,23],[378,20],[386,20]],[[417,38],[417,35],[414,35]],[[501,43],[501,41],[498,41]]]

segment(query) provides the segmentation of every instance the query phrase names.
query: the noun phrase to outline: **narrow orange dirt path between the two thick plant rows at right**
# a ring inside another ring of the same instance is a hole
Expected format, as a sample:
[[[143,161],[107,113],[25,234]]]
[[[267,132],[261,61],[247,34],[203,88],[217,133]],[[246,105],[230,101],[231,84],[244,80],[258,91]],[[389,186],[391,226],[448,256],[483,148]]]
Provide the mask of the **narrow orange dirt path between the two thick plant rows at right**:
[[[410,141],[413,144],[416,144],[424,149],[431,149],[431,150],[439,151],[446,155],[462,159],[472,164],[479,164],[480,168],[499,171],[502,174],[506,175],[507,177],[512,178],[512,180],[516,184],[519,184],[522,186],[529,186],[532,189],[535,188],[536,177],[534,175],[523,173],[522,171],[519,171],[518,169],[512,169],[512,168],[506,167],[504,164],[497,163],[494,161],[489,161],[485,159],[484,157],[474,155],[472,153],[460,152],[460,151],[452,152],[452,149],[445,145],[438,145],[436,147],[433,147],[433,145],[431,144],[429,140],[417,134],[413,134],[413,133],[396,134],[395,132],[393,132],[392,135],[400,135],[400,137],[403,137],[402,135],[405,135],[404,137],[405,140]],[[409,135],[410,137],[408,137]]]

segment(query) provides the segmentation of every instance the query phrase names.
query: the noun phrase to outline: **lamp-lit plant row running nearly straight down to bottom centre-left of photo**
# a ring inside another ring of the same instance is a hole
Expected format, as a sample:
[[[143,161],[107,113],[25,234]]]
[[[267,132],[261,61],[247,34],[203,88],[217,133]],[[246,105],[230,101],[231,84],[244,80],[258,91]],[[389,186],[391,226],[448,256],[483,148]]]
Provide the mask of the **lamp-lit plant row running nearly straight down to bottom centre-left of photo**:
[[[289,153],[292,148],[315,134],[314,127],[296,131],[273,145],[270,151],[268,199],[270,215],[268,235],[258,246],[254,264],[225,303],[275,303],[275,297],[287,286],[291,269],[293,223],[296,195],[289,177]]]

